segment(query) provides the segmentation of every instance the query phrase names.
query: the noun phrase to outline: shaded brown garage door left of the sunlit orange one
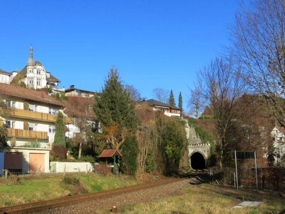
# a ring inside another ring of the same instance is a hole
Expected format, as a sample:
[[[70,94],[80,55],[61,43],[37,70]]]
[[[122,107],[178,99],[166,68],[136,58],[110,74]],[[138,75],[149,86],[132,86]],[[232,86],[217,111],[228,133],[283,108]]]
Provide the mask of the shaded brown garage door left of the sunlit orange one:
[[[22,153],[5,152],[4,169],[8,169],[10,172],[22,172]]]

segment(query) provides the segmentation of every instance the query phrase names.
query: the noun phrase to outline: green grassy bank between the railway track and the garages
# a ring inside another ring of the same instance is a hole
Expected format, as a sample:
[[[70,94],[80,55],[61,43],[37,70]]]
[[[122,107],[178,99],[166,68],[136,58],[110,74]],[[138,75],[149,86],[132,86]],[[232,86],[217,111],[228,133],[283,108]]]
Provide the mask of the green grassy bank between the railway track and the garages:
[[[90,173],[72,175],[72,179],[63,178],[63,175],[11,176],[7,181],[1,178],[0,207],[48,200],[74,193],[104,191],[139,183],[136,179],[124,175],[115,177]]]

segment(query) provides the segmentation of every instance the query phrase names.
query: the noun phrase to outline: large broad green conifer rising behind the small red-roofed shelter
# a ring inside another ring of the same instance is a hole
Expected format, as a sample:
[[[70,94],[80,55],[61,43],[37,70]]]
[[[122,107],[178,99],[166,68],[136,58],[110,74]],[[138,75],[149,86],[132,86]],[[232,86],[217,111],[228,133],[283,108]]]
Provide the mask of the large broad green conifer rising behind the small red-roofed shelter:
[[[137,129],[135,102],[130,99],[114,66],[110,68],[104,87],[95,96],[95,101],[94,112],[103,126],[110,127],[115,122],[132,131]]]

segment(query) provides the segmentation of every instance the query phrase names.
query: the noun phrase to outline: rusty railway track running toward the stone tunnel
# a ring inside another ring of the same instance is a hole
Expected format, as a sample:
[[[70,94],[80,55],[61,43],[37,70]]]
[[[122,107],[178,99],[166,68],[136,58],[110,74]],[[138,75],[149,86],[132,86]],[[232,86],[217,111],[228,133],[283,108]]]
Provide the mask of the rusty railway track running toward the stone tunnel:
[[[195,176],[195,175],[194,175]],[[173,183],[175,181],[179,181],[180,179],[187,179],[187,177],[184,178],[168,178],[163,179],[159,181],[154,181],[150,183],[143,183],[139,185],[134,185],[130,187],[121,187],[117,189],[107,190],[107,191],[101,191],[96,193],[87,193],[87,194],[81,194],[81,195],[73,195],[73,196],[66,196],[51,200],[45,200],[45,201],[37,201],[33,203],[26,203],[21,205],[15,205],[15,206],[7,206],[7,207],[0,207],[0,214],[6,214],[6,213],[31,213],[35,211],[41,211],[44,209],[51,209],[55,207],[61,207],[64,205],[74,204],[74,203],[80,203],[84,201],[99,199],[103,197],[110,197],[113,195],[119,195],[122,193],[127,192],[133,192],[138,191],[141,189],[146,189],[150,187],[160,186],[168,183]]]

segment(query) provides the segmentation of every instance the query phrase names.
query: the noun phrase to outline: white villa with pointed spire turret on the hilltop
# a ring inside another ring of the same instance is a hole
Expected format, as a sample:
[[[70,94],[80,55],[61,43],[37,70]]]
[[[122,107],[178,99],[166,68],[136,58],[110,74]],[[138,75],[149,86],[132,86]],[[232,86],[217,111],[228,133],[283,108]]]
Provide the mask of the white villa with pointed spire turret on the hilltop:
[[[38,89],[46,86],[57,89],[59,79],[52,76],[50,72],[47,72],[40,61],[34,61],[32,44],[30,47],[30,56],[27,61],[27,65],[17,73],[22,79],[20,81],[25,82],[28,88]]]

